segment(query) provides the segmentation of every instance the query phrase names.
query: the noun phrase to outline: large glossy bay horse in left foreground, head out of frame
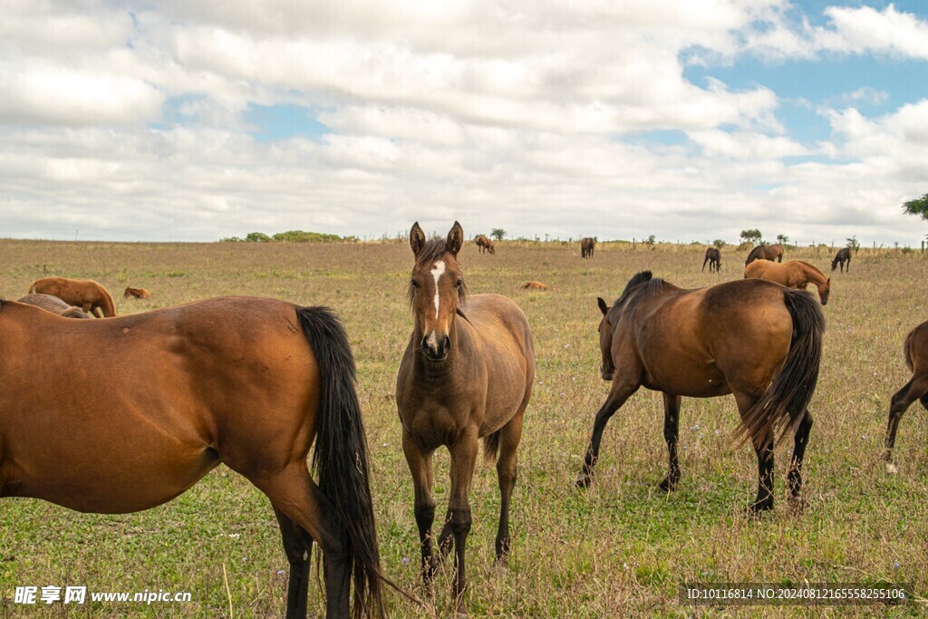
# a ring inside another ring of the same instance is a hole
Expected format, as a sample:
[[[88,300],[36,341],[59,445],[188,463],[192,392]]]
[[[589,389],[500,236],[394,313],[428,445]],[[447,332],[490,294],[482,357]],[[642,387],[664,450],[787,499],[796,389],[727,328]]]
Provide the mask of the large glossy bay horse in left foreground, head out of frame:
[[[73,363],[88,355],[107,372]],[[329,308],[218,297],[77,321],[0,302],[0,376],[0,496],[128,513],[222,462],[270,498],[288,619],[306,616],[314,541],[326,616],[349,616],[352,581],[354,617],[384,616],[354,357]]]

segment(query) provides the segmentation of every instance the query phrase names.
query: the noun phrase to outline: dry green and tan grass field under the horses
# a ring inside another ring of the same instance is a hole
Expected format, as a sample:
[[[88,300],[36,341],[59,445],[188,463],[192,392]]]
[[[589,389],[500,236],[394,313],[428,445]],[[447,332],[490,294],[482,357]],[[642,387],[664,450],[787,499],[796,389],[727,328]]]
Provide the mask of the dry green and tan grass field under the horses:
[[[470,290],[499,292],[522,306],[535,332],[537,380],[525,417],[512,503],[509,569],[496,568],[496,471],[479,465],[471,496],[468,607],[473,616],[810,616],[836,609],[682,606],[691,581],[909,583],[922,601],[895,609],[847,607],[850,616],[928,612],[928,415],[916,404],[902,420],[899,474],[881,460],[889,398],[909,379],[903,338],[928,318],[928,261],[920,254],[861,251],[849,274],[832,277],[825,353],[806,452],[806,509],[787,509],[786,450],[777,452],[777,506],[759,522],[742,509],[754,497],[756,460],[735,448],[733,399],[684,399],[683,478],[665,496],[660,393],[639,391],[606,429],[596,483],[574,490],[580,455],[608,385],[599,378],[596,297],[610,302],[638,270],[682,287],[741,277],[743,252],[723,253],[720,276],[701,273],[701,246],[597,248],[516,246],[496,255],[472,244],[460,262]],[[788,251],[823,270],[831,251]],[[383,569],[421,594],[412,484],[393,400],[411,330],[406,244],[110,244],[0,241],[0,297],[17,299],[44,275],[91,277],[117,297],[120,314],[222,294],[325,304],[342,316],[359,368],[371,451]],[[535,279],[549,291],[525,291]],[[124,301],[122,289],[152,291]],[[93,366],[93,351],[75,360]],[[106,372],[107,368],[99,368]],[[3,377],[0,376],[0,397]],[[119,415],[119,410],[113,410]],[[2,445],[0,445],[2,448]],[[446,451],[436,454],[437,513],[444,513]],[[317,553],[316,553],[317,554]],[[287,562],[268,500],[220,467],[186,495],[147,512],[84,515],[32,499],[0,501],[0,616],[275,617],[284,607]],[[92,591],[190,591],[192,602],[56,605],[13,603],[15,587],[83,585]],[[448,616],[450,574],[434,605],[390,595],[395,617]],[[319,585],[310,587],[322,613]]]

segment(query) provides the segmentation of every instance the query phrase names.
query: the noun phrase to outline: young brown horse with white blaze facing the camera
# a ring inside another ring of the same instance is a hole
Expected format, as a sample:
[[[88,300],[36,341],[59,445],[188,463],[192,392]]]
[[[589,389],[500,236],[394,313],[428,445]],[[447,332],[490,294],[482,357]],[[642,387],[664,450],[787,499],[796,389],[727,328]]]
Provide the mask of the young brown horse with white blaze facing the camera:
[[[446,239],[426,241],[417,222],[409,234],[415,265],[408,297],[414,327],[396,376],[396,405],[403,424],[403,452],[415,487],[422,580],[432,579],[452,546],[452,592],[458,616],[466,615],[465,546],[470,533],[470,480],[483,439],[483,457],[496,458],[502,496],[496,561],[509,554],[509,499],[516,482],[516,447],[535,380],[535,344],[518,305],[497,294],[468,296],[458,265],[464,239],[455,222]],[[432,454],[451,454],[448,509],[432,553]]]

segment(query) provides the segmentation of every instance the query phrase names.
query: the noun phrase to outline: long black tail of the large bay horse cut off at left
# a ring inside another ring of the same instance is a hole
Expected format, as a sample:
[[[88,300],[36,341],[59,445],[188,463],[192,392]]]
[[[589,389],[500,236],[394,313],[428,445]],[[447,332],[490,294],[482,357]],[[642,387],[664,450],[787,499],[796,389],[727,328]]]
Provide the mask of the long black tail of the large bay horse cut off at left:
[[[385,616],[380,552],[370,497],[367,439],[354,388],[354,355],[341,321],[328,307],[298,307],[303,335],[319,368],[313,469],[348,536],[355,617]]]

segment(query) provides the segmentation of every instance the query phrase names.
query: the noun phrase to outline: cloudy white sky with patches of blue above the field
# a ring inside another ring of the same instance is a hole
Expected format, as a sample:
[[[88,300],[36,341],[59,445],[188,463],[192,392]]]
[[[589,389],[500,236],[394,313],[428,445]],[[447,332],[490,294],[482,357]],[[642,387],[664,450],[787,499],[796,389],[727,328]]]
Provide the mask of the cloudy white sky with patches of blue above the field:
[[[922,0],[5,0],[0,238],[918,246]]]

